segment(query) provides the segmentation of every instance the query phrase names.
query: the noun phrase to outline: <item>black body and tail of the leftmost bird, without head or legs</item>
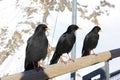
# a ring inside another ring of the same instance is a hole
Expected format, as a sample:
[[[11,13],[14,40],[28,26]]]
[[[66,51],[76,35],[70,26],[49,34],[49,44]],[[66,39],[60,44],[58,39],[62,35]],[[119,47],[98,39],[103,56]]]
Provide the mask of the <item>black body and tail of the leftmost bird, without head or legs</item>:
[[[34,69],[33,62],[44,60],[47,55],[48,40],[45,35],[32,36],[27,41],[25,70]]]

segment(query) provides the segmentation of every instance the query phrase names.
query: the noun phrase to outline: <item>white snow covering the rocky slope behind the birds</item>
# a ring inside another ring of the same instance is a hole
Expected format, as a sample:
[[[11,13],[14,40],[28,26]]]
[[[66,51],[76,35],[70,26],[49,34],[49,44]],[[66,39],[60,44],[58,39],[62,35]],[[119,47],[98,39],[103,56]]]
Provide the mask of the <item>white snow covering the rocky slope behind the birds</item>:
[[[97,2],[92,2],[90,0],[80,0],[81,4],[88,5],[89,12],[92,11],[93,7],[99,4],[99,0]],[[87,2],[87,3],[86,3]],[[109,0],[112,4],[115,4],[115,8],[111,8],[109,10],[110,15],[106,16],[103,14],[98,17],[100,27],[102,31],[100,33],[100,39],[97,48],[95,49],[96,53],[108,51],[112,49],[116,49],[120,47],[120,6],[119,0]],[[19,4],[19,7],[16,7]],[[18,31],[22,35],[22,39],[24,40],[24,44],[21,44],[19,48],[15,50],[13,55],[9,55],[8,58],[0,65],[0,77],[10,74],[15,74],[24,71],[24,58],[25,58],[25,48],[26,48],[26,40],[29,36],[32,35],[34,31],[33,28],[29,24],[20,24],[21,22],[29,21],[37,24],[37,22],[41,21],[40,18],[43,17],[44,12],[34,13],[30,17],[25,16],[26,13],[23,11],[23,8],[26,6],[34,6],[40,7],[39,4],[32,4],[30,0],[1,0],[0,1],[0,28],[7,28],[7,39],[11,38],[15,31]],[[108,7],[106,7],[107,9]],[[89,13],[88,13],[89,14]],[[83,39],[85,35],[92,29],[95,24],[87,19],[83,19],[80,17],[78,12],[77,25],[82,27],[82,31],[77,31],[77,41],[76,41],[76,56],[81,56],[81,49],[83,45]],[[57,20],[57,21],[56,21]],[[52,46],[55,46],[59,36],[66,31],[66,28],[71,24],[72,21],[72,13],[69,10],[65,10],[64,12],[55,12],[50,11],[50,15],[47,18],[47,24],[51,27],[51,31],[49,32],[48,39]],[[54,28],[55,32],[54,32]],[[29,33],[22,32],[23,30],[29,30]],[[54,33],[54,35],[53,35]],[[1,36],[0,36],[1,37]],[[8,41],[8,40],[5,40]],[[7,42],[6,42],[7,43]],[[0,52],[4,50],[2,46],[0,46]],[[120,69],[120,58],[116,58],[110,61],[110,72],[114,72]],[[88,72],[96,70],[97,68],[104,65],[103,63],[96,64],[95,66],[90,66],[77,71],[77,74],[84,76]],[[57,77],[58,80],[70,80],[70,74],[65,74]],[[77,76],[77,80],[82,80],[82,77]]]

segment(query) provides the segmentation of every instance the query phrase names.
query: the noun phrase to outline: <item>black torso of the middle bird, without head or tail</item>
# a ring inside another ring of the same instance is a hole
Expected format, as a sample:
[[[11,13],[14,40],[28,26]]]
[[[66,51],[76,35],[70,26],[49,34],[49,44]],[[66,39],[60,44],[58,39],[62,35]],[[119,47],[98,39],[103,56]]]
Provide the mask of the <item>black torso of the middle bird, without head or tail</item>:
[[[64,33],[58,41],[56,52],[69,53],[75,43],[75,40],[76,38],[74,34]]]

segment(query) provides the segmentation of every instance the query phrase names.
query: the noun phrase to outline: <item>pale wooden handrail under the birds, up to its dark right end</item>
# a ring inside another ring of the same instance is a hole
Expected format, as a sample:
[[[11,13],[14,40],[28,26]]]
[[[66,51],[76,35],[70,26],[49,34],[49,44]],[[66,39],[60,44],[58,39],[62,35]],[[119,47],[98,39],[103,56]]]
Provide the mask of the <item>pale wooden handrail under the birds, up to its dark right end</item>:
[[[97,56],[90,55],[82,58],[75,59],[75,62],[68,61],[66,64],[58,63],[45,68],[43,71],[28,71],[15,75],[2,77],[1,80],[46,80],[54,78],[72,71],[76,71],[90,65],[107,61],[111,58],[109,51],[99,53]]]

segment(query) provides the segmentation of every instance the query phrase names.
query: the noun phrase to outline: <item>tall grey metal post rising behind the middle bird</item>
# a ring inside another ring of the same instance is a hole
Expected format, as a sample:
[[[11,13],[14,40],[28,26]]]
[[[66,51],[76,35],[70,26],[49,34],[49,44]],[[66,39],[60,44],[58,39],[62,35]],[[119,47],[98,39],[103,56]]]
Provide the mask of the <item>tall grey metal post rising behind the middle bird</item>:
[[[72,24],[77,23],[77,0],[72,1]],[[74,47],[71,51],[71,56],[73,59],[76,58],[76,43],[74,44]],[[76,73],[71,73],[71,80],[75,80]]]

